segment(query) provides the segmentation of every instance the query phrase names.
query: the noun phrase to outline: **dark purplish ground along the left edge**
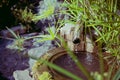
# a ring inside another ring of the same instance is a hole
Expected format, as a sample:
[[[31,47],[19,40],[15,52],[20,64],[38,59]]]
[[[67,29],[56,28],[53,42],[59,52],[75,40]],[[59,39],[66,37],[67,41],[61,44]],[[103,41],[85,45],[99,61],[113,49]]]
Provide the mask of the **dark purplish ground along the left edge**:
[[[24,51],[6,48],[11,42],[12,40],[0,39],[0,80],[14,80],[14,71],[29,67],[29,57],[23,54]]]

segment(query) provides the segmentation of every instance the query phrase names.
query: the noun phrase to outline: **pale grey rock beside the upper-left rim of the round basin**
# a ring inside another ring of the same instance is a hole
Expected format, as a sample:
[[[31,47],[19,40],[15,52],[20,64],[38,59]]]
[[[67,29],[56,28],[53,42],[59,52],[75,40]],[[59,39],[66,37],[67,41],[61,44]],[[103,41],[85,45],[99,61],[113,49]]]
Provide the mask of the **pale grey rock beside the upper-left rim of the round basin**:
[[[36,59],[40,58],[44,53],[52,48],[54,48],[54,46],[51,41],[45,41],[40,46],[28,50],[28,56],[30,56],[29,68],[32,69],[34,63],[36,62]]]

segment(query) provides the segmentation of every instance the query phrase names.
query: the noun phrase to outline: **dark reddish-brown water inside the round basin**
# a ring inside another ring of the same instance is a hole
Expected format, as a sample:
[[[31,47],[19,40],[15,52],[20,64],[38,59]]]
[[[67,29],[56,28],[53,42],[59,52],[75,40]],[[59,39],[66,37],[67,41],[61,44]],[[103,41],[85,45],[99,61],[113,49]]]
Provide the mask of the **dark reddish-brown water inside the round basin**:
[[[89,72],[100,71],[99,60],[97,59],[97,57],[93,56],[91,53],[76,52],[75,55]],[[87,80],[85,75],[81,72],[81,70],[77,67],[75,62],[71,59],[71,57],[68,54],[64,54],[56,58],[53,61],[53,63],[83,78],[83,80]],[[64,76],[63,74],[60,74],[60,75]]]

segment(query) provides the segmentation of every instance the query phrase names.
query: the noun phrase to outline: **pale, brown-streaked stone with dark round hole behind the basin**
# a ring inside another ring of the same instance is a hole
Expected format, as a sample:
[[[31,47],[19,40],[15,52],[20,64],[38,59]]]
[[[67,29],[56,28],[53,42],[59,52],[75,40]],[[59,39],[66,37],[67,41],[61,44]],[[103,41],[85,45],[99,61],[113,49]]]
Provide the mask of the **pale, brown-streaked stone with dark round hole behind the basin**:
[[[61,29],[60,29],[60,35],[63,37],[69,47],[72,51],[87,51],[92,53],[94,46],[92,40],[88,36],[83,36],[82,34],[82,27],[81,30],[78,31],[79,26],[77,24],[72,23],[66,23]],[[79,35],[78,35],[79,34]],[[74,43],[75,39],[78,39],[77,44]]]

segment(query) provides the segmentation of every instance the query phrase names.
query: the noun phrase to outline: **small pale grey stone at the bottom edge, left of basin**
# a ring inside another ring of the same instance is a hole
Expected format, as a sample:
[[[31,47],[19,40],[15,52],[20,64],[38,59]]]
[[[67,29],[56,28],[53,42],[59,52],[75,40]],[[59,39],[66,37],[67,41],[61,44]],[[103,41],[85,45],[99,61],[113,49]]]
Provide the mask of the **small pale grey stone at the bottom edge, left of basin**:
[[[16,70],[13,73],[13,77],[15,80],[34,80],[30,75],[29,75],[29,70]]]

